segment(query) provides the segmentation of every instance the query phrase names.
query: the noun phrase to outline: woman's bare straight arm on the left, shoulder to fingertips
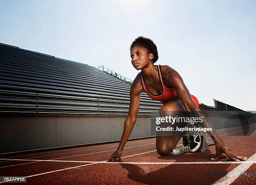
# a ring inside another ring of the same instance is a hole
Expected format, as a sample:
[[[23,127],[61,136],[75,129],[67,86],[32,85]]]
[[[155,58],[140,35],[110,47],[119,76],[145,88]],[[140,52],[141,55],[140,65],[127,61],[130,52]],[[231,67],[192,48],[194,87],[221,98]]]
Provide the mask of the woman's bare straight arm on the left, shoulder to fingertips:
[[[116,160],[118,158],[119,161],[122,161],[120,156],[123,153],[123,148],[125,146],[126,141],[128,140],[129,136],[131,135],[131,132],[133,130],[133,127],[136,122],[137,113],[140,105],[140,93],[143,92],[143,87],[141,86],[141,80],[138,79],[138,76],[135,78],[131,85],[130,89],[130,106],[128,115],[124,122],[124,128],[123,128],[123,135],[120,140],[118,149],[111,155],[108,162],[111,160]]]

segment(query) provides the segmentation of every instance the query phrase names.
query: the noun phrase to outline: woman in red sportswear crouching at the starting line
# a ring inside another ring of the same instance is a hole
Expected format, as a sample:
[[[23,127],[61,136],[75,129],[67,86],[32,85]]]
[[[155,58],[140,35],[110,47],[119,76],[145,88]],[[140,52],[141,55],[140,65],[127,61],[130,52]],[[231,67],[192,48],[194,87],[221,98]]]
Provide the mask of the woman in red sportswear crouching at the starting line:
[[[160,100],[163,104],[159,110],[161,117],[172,115],[174,111],[197,111],[202,117],[199,103],[195,96],[190,95],[182,77],[177,71],[168,65],[154,65],[158,60],[157,47],[154,42],[146,37],[138,37],[130,47],[131,63],[136,70],[141,70],[135,77],[130,89],[130,107],[125,119],[123,135],[118,149],[111,155],[108,161],[123,161],[121,155],[126,141],[128,140],[133,126],[136,122],[137,112],[140,105],[140,93],[145,91],[153,100]],[[169,113],[168,113],[169,112]],[[173,116],[173,115],[172,115]],[[199,123],[202,128],[212,128],[212,125],[204,116]],[[246,157],[235,155],[228,148],[214,128],[207,131],[215,142],[216,156],[212,160],[218,160],[220,155],[225,153],[231,160],[247,160]],[[161,156],[169,155],[184,132],[177,132],[177,135],[156,135],[156,150]],[[197,140],[195,139],[197,138]],[[191,152],[195,152],[201,141],[200,134],[184,137],[183,144],[189,142]]]

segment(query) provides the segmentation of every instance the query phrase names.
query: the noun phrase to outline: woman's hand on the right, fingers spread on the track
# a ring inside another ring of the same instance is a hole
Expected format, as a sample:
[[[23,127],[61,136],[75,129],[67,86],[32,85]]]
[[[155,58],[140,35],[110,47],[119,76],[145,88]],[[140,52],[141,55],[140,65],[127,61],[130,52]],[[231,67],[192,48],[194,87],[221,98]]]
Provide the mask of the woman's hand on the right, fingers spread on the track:
[[[235,155],[228,146],[226,146],[223,142],[215,142],[216,156],[215,158],[211,158],[211,160],[219,160],[220,155],[225,153],[231,160],[240,161],[247,160],[246,157]]]

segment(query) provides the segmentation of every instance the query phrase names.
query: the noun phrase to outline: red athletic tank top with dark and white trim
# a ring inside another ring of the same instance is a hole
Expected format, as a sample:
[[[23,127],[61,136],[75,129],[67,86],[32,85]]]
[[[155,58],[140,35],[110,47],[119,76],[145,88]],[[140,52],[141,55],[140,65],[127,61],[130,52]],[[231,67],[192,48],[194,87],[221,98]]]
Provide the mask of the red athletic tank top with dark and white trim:
[[[163,93],[161,95],[157,95],[157,96],[154,96],[152,95],[147,87],[146,87],[146,84],[144,83],[144,80],[143,80],[143,77],[142,77],[142,72],[141,72],[141,81],[142,81],[142,85],[143,85],[143,88],[145,90],[145,92],[148,94],[149,97],[151,97],[151,99],[153,100],[170,100],[174,97],[177,96],[177,93],[176,91],[174,90],[174,87],[166,87],[164,85],[164,82],[163,82],[163,79],[162,79],[162,74],[161,74],[161,69],[160,69],[160,65],[157,65],[157,69],[158,69],[158,75],[159,75],[159,78],[161,80],[161,84],[162,84],[162,87],[163,87]]]

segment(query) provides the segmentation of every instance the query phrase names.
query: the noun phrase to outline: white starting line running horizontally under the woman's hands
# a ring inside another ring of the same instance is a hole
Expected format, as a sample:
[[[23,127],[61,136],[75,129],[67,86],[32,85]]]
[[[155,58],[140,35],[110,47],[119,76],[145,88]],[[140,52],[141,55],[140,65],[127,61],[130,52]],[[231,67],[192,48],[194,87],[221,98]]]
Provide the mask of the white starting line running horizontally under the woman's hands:
[[[131,156],[126,156],[131,157]],[[251,159],[251,158],[249,158]],[[2,160],[2,159],[1,159]],[[12,159],[12,160],[21,160],[22,159]],[[197,161],[197,162],[106,162],[106,161],[77,161],[77,160],[34,160],[26,159],[26,161],[40,161],[40,162],[68,162],[68,163],[106,163],[106,164],[142,164],[142,165],[171,165],[171,164],[253,164],[256,163],[256,158],[254,160],[246,161]]]

